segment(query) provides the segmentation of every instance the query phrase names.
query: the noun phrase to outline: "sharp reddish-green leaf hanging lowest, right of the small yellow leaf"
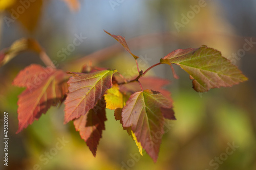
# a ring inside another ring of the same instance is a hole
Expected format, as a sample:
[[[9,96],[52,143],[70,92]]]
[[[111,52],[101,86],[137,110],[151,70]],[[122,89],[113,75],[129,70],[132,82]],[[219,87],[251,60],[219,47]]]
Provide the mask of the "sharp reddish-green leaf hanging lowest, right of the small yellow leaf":
[[[161,93],[152,90],[132,94],[122,109],[123,127],[131,127],[143,149],[156,162],[163,134],[161,108],[172,103]]]

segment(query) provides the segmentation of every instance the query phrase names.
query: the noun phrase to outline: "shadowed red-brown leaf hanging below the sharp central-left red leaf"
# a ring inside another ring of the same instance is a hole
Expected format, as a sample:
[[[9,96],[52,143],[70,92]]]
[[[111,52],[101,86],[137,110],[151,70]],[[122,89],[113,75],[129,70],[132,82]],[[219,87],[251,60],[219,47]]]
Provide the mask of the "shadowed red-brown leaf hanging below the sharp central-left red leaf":
[[[97,146],[102,137],[102,130],[105,130],[106,121],[105,101],[101,99],[96,107],[86,114],[74,120],[74,126],[79,131],[81,138],[86,141],[89,149],[96,156]]]

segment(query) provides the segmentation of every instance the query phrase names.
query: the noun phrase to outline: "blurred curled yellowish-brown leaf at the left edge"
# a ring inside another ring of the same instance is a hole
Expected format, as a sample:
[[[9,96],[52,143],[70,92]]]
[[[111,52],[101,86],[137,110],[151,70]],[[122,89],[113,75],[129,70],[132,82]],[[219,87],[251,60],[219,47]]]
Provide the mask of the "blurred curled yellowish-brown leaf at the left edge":
[[[5,65],[15,56],[27,50],[38,54],[42,52],[42,48],[36,40],[22,38],[16,40],[9,48],[5,48],[0,52],[0,66]]]

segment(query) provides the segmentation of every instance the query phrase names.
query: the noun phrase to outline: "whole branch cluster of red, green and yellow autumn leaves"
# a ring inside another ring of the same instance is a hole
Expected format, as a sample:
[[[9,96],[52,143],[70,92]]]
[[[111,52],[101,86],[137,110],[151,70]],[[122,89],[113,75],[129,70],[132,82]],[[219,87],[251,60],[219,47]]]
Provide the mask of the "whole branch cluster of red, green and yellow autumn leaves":
[[[138,76],[133,80],[127,81],[117,70],[93,67],[90,64],[84,66],[81,72],[56,69],[40,45],[31,39],[18,40],[1,52],[0,65],[25,50],[37,52],[45,63],[49,63],[48,67],[32,64],[21,70],[13,81],[15,86],[26,87],[18,97],[17,133],[37,120],[42,113],[46,113],[51,106],[65,101],[64,123],[73,121],[75,129],[95,156],[105,129],[105,108],[108,108],[115,110],[115,119],[135,140],[140,153],[144,149],[156,161],[164,121],[176,118],[170,92],[163,89],[169,82],[144,77],[147,71],[157,65],[168,64],[174,78],[178,78],[172,64],[179,65],[189,74],[197,92],[232,86],[247,80],[237,66],[222,57],[219,51],[205,45],[175,50],[143,71],[139,69],[139,57],[131,52],[124,37],[108,34],[134,57]]]

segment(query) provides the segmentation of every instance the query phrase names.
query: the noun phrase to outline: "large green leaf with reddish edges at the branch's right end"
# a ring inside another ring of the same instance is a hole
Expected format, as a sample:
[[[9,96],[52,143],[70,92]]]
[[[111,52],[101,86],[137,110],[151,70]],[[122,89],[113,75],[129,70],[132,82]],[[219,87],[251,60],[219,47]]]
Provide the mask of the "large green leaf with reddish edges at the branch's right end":
[[[237,66],[222,57],[221,53],[206,45],[200,48],[178,49],[169,53],[161,63],[177,64],[193,79],[193,88],[197,92],[206,92],[211,88],[230,87],[248,80]]]

